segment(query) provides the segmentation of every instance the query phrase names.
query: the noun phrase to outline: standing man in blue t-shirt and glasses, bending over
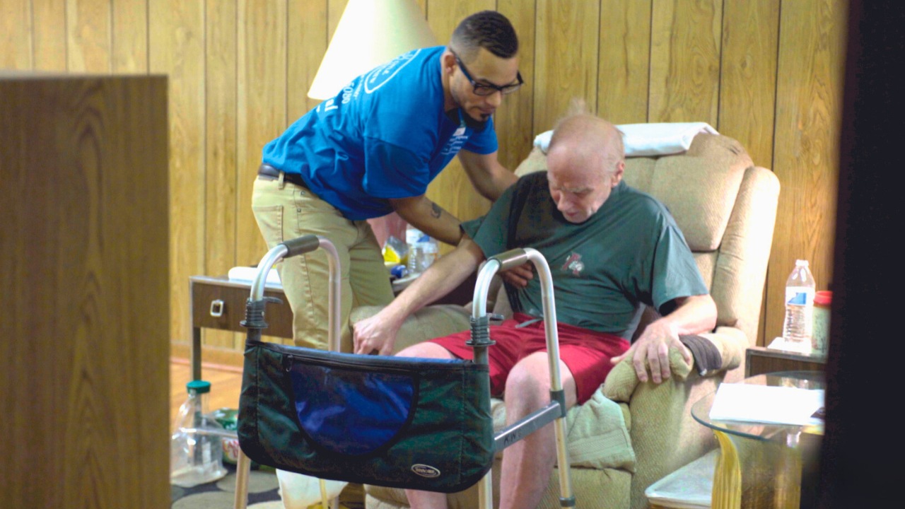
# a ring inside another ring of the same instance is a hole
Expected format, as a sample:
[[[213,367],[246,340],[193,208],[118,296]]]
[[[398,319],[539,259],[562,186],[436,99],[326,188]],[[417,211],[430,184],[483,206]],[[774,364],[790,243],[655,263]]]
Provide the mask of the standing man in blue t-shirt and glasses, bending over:
[[[497,159],[492,114],[517,91],[519,41],[502,14],[465,18],[448,46],[405,53],[358,76],[263,149],[252,210],[269,246],[301,235],[336,245],[342,270],[342,342],[353,305],[393,299],[380,245],[367,219],[396,212],[447,244],[459,220],[424,196],[456,155],[491,200],[516,178]],[[281,263],[296,344],[325,348],[329,263],[315,251]]]

